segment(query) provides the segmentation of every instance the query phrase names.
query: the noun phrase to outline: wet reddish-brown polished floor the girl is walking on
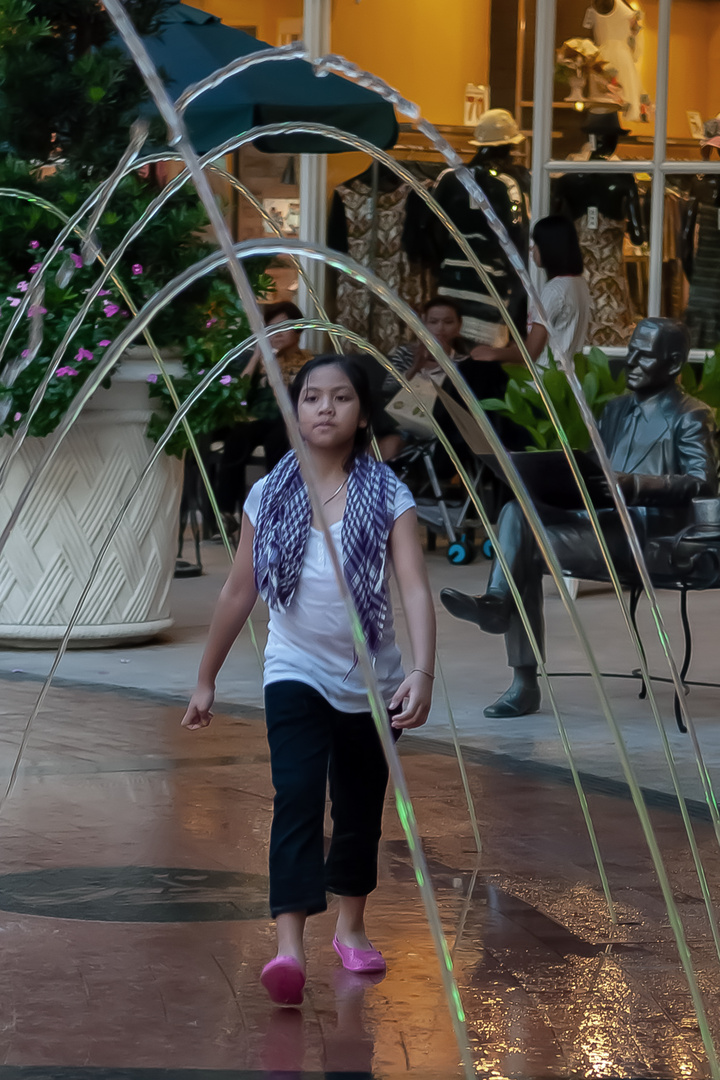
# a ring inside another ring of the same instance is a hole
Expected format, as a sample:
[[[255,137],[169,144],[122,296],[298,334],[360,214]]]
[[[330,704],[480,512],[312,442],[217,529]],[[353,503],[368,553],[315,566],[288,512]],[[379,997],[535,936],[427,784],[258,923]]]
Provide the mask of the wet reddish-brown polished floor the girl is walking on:
[[[0,685],[4,788],[39,684]],[[0,812],[0,1080],[460,1077],[392,804],[369,914],[386,977],[342,971],[330,908],[310,923],[305,1003],[276,1009],[258,985],[273,943],[261,715],[187,732],[181,712],[139,692],[47,698]],[[631,804],[588,796],[613,927],[572,787],[470,762],[478,860],[454,759],[419,734],[400,751],[477,1075],[708,1076]],[[687,838],[671,810],[652,820],[717,1038],[718,964]],[[717,843],[694,824],[717,895]]]

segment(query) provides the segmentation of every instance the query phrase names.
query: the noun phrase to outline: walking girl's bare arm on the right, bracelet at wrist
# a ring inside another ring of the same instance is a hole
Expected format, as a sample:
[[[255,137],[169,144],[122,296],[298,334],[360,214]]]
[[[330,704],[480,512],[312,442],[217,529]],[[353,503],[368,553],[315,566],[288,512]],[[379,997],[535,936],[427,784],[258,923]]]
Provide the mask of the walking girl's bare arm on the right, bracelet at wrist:
[[[427,719],[433,697],[435,606],[415,510],[407,510],[395,522],[390,534],[390,553],[410,636],[413,669],[397,688],[390,707],[403,704],[402,712],[393,717],[393,727],[417,728]]]

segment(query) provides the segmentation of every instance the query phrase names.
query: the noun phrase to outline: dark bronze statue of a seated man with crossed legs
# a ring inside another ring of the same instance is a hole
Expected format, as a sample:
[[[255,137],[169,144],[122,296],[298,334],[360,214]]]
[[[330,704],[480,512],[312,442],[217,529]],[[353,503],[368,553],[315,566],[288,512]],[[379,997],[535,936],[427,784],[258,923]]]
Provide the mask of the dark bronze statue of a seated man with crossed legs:
[[[609,402],[600,418],[600,435],[641,545],[656,536],[679,531],[691,521],[690,502],[718,489],[716,427],[707,405],[689,397],[677,376],[688,359],[690,335],[673,319],[644,319],[628,347],[630,393]],[[539,507],[560,565],[572,577],[607,575],[599,544],[585,511]],[[621,578],[634,576],[635,563],[616,510],[598,512],[602,531]],[[497,527],[533,633],[544,653],[542,576],[544,563],[517,501],[508,502]],[[484,596],[444,589],[440,599],[458,619],[489,634],[504,634],[512,686],[486,716],[513,717],[540,708],[534,653],[513,602],[507,579],[495,559]]]

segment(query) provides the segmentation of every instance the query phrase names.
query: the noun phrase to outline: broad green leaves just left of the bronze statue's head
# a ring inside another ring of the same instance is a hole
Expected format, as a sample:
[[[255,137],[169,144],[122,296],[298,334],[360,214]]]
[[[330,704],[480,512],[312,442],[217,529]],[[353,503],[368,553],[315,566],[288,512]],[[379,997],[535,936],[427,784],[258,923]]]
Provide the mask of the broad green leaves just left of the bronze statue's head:
[[[587,355],[578,353],[574,365],[585,400],[597,419],[606,404],[625,390],[625,375],[623,373],[616,379],[613,378],[607,355],[596,348],[590,349]],[[528,368],[508,364],[504,369],[510,376],[505,397],[502,401],[486,399],[480,402],[483,408],[500,413],[525,428],[530,436],[527,447],[529,450],[559,449],[559,436]],[[568,379],[552,354],[549,367],[543,372],[542,380],[570,446],[575,450],[586,450],[589,446],[589,433]]]

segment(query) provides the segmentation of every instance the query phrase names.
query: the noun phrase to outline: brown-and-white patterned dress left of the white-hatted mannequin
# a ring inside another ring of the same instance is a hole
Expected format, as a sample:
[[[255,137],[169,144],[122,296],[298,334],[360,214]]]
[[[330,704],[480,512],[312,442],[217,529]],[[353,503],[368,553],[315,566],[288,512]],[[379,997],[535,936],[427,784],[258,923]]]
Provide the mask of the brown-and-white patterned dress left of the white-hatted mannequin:
[[[392,191],[380,191],[373,213],[372,189],[355,178],[336,188],[336,199],[344,211],[349,254],[363,266],[371,267],[394,293],[420,311],[432,295],[433,283],[422,269],[410,264],[403,246],[409,192],[407,184]],[[331,240],[330,245],[335,246]],[[348,274],[339,278],[337,318],[349,330],[385,354],[412,337],[412,332],[386,303]]]

